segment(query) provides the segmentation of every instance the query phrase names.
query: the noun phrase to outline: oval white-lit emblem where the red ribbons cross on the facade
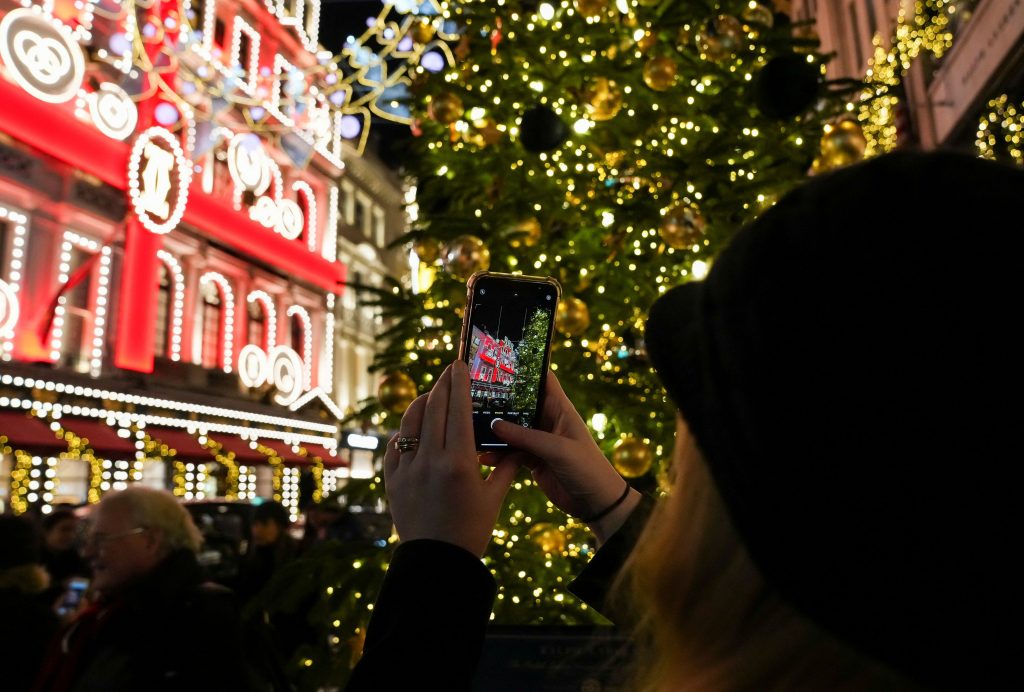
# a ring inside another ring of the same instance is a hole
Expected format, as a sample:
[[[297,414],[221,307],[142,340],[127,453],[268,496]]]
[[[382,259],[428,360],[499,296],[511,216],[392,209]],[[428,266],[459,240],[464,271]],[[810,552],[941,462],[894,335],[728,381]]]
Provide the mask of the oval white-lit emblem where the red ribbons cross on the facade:
[[[174,229],[185,213],[191,167],[177,138],[151,127],[128,157],[128,197],[139,221],[154,233]]]

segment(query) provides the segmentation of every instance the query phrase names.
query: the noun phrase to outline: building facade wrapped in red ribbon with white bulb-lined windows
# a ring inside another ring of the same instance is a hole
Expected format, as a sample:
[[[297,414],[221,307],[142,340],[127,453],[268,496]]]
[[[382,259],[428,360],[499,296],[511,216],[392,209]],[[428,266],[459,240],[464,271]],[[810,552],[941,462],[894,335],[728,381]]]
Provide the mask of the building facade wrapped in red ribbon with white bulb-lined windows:
[[[351,93],[318,16],[0,0],[4,507],[137,481],[297,512],[376,444],[339,428],[369,385],[337,338]],[[367,199],[383,245],[400,200]]]

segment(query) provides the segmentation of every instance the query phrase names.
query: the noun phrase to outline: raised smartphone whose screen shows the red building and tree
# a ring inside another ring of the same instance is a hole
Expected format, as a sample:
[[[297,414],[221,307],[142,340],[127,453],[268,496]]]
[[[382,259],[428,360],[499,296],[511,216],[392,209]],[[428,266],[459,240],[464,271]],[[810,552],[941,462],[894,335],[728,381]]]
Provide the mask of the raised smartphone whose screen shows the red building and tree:
[[[550,276],[469,277],[459,357],[469,366],[477,450],[508,447],[490,430],[496,419],[532,428],[540,417],[561,292]]]

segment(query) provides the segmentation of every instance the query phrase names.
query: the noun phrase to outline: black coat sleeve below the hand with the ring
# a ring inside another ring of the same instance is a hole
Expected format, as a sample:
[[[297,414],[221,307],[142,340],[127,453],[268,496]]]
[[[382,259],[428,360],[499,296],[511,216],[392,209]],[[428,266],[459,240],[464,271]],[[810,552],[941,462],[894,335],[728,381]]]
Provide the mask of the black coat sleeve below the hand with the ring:
[[[399,545],[346,692],[469,690],[497,591],[483,563],[458,546]]]

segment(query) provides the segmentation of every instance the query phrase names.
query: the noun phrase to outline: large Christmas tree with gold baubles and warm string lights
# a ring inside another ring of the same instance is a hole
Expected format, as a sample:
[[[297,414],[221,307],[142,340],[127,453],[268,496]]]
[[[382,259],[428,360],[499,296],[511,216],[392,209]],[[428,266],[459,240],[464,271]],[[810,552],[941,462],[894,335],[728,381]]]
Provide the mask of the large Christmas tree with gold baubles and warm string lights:
[[[472,272],[551,275],[563,292],[551,367],[615,468],[657,490],[675,417],[645,355],[648,307],[700,278],[816,159],[839,165],[864,149],[842,120],[862,85],[826,83],[813,33],[769,3],[424,3],[387,25],[444,59],[413,70],[413,276],[364,288],[389,327],[378,397],[356,418],[396,429],[455,359]],[[543,320],[532,315],[518,346],[531,376]],[[599,620],[566,591],[592,550],[524,471],[485,557],[500,588],[494,620]],[[358,562],[376,580],[388,553],[374,555]],[[357,644],[373,596],[361,585],[331,611],[336,641]]]

